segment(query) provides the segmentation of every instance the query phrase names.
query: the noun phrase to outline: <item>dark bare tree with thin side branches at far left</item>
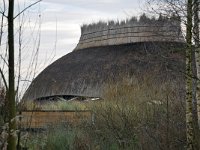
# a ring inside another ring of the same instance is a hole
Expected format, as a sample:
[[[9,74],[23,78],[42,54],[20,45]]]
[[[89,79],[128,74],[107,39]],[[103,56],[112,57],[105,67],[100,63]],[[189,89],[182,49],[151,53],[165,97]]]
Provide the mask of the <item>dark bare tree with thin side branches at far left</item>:
[[[7,90],[7,99],[6,103],[8,108],[8,139],[7,139],[7,149],[8,150],[15,150],[16,149],[16,92],[17,89],[15,88],[15,43],[14,43],[14,21],[17,17],[22,15],[28,8],[31,6],[37,4],[41,0],[36,1],[35,3],[32,3],[31,5],[25,7],[22,11],[19,11],[18,14],[14,15],[14,6],[15,6],[15,1],[14,0],[9,0],[6,2],[5,0],[2,1],[3,9],[0,10],[0,13],[2,15],[1,18],[1,28],[0,28],[0,46],[2,42],[2,35],[3,35],[3,21],[4,18],[7,19],[7,41],[5,43],[8,43],[8,62],[7,62],[7,57],[1,56],[0,58],[3,59],[4,63],[8,67],[8,78],[6,78],[7,74],[4,74],[3,69],[0,67],[0,76],[2,77],[4,86]],[[19,33],[20,34],[20,33]],[[8,80],[7,80],[8,79]]]

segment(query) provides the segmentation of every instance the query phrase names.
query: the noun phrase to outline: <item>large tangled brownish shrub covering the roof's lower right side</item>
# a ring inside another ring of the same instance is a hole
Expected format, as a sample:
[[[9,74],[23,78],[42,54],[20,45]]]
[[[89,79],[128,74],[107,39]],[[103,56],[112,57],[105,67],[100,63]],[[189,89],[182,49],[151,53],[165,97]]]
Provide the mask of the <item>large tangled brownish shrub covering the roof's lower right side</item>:
[[[184,93],[173,82],[123,79],[108,85],[104,101],[90,106],[95,123],[89,134],[108,149],[184,149]]]

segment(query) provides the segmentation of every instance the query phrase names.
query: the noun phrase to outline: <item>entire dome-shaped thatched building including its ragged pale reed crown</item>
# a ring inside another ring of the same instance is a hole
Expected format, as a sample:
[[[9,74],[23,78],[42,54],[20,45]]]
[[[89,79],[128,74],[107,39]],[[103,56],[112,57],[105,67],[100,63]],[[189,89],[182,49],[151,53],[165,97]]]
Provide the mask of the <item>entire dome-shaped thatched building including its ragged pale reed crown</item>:
[[[184,69],[183,51],[177,49],[184,43],[180,31],[171,20],[83,25],[75,50],[44,69],[23,99],[101,97],[109,82],[152,71],[179,78]]]

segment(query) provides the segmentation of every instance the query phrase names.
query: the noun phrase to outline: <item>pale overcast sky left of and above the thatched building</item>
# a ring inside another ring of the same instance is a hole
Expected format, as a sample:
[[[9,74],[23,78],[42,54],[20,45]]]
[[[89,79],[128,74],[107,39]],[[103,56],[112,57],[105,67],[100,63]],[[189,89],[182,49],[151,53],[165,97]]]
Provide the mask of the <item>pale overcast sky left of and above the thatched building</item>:
[[[15,15],[36,1],[15,0]],[[42,0],[29,8],[15,20],[16,56],[18,56],[19,24],[23,24],[21,80],[34,78],[50,63],[71,52],[78,44],[82,24],[98,22],[99,20],[124,20],[131,16],[139,16],[144,9],[144,1]],[[2,7],[1,1],[1,10]],[[37,49],[39,36],[41,39],[39,49]],[[0,47],[0,55],[2,56],[5,52],[4,45],[6,46],[7,35],[4,34],[3,38],[5,42]],[[38,57],[34,56],[37,50]],[[33,61],[31,59],[37,60],[37,66],[30,63]],[[2,62],[1,60],[0,65]],[[16,61],[16,66],[19,66],[18,61]],[[36,72],[30,76],[34,68],[36,68]]]

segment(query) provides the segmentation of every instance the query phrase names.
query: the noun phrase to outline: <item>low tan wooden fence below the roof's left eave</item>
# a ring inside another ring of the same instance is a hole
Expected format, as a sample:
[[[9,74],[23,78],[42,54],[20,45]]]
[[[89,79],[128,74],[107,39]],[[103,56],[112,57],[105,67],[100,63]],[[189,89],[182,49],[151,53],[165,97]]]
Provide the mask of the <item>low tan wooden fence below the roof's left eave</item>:
[[[22,128],[46,128],[48,125],[68,123],[78,125],[83,121],[92,122],[91,111],[22,111]]]

